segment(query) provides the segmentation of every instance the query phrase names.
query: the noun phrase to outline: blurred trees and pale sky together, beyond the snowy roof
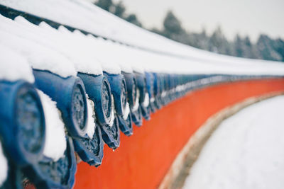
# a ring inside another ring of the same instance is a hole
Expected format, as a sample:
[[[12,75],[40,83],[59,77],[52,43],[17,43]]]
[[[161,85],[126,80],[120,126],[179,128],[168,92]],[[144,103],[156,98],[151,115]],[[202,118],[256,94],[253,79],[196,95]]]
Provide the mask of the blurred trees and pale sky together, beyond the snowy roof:
[[[141,28],[192,47],[284,62],[283,0],[92,2]]]

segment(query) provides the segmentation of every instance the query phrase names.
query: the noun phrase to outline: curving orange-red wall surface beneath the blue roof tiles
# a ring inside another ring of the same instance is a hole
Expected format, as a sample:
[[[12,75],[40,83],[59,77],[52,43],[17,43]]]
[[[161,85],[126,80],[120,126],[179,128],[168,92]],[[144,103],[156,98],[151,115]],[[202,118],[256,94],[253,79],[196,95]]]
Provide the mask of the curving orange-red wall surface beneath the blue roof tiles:
[[[188,93],[151,115],[116,151],[104,146],[98,168],[78,164],[75,189],[157,188],[192,134],[219,110],[246,98],[284,91],[284,79],[236,81]]]

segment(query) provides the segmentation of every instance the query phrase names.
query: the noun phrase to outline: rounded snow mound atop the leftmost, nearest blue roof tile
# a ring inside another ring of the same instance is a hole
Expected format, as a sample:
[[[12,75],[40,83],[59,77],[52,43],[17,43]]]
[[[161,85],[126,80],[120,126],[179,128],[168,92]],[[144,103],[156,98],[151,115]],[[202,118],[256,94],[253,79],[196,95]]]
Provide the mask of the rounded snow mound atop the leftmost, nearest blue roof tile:
[[[0,80],[23,79],[30,83],[34,82],[32,69],[24,57],[3,45],[0,45],[0,52]]]

